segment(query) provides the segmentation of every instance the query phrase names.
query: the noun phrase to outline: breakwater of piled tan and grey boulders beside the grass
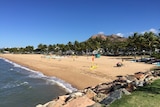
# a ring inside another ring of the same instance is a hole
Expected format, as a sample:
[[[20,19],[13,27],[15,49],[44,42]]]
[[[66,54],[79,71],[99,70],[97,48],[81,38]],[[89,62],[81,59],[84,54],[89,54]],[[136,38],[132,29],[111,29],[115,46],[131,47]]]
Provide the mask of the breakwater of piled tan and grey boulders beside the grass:
[[[117,76],[110,83],[102,83],[96,87],[88,87],[70,94],[59,96],[44,105],[36,107],[101,107],[108,106],[123,94],[130,95],[137,87],[150,84],[160,77],[160,69],[137,72],[134,75]]]

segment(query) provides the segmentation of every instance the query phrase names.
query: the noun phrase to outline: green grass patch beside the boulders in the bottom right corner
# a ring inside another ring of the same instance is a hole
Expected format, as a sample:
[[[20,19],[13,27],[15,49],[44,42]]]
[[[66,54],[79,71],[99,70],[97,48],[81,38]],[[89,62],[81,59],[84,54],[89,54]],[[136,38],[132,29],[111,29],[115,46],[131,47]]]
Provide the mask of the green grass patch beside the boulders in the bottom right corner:
[[[160,79],[138,88],[131,95],[123,95],[109,107],[160,107]]]

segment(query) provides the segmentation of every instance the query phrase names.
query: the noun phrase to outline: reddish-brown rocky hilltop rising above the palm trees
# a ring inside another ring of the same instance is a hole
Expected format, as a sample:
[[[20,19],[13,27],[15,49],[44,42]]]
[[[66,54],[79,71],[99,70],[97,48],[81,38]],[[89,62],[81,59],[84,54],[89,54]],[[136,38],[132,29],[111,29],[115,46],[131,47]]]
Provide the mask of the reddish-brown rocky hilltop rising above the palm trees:
[[[105,34],[95,34],[95,35],[92,35],[90,37],[91,39],[95,39],[95,38],[101,38],[101,39],[109,39],[111,41],[126,41],[127,38],[125,37],[121,37],[121,36],[118,36],[118,35],[115,35],[115,34],[112,34],[112,35],[105,35]]]

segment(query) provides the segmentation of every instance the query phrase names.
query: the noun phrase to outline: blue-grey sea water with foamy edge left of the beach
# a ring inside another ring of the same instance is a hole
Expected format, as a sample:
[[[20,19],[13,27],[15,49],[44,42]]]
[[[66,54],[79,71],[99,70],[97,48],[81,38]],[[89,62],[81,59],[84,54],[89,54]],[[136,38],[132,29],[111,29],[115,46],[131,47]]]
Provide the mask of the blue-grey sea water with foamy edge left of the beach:
[[[63,80],[0,58],[0,107],[35,107],[72,91]]]

